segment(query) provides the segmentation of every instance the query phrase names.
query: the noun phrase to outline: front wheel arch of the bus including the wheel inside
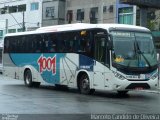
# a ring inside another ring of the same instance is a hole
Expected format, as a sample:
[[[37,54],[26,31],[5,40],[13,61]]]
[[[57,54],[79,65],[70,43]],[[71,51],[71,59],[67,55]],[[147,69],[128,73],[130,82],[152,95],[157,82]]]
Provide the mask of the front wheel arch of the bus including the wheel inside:
[[[81,94],[93,94],[94,89],[90,89],[89,75],[81,71],[77,75],[77,87]]]

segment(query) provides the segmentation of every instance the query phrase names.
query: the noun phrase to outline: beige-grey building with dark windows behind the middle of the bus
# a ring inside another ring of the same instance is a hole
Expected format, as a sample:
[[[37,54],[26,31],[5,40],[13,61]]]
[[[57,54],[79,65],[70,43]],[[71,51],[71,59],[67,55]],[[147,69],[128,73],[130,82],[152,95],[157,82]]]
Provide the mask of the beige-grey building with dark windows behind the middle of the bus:
[[[66,23],[114,23],[116,0],[66,0]]]

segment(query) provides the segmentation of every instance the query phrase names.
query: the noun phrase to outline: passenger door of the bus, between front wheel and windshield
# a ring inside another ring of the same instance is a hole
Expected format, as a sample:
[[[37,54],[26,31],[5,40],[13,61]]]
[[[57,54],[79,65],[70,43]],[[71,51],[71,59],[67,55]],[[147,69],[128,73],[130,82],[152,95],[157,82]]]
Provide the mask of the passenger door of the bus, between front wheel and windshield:
[[[104,69],[105,69],[105,51],[106,51],[106,35],[96,35],[94,37],[94,81],[95,89],[104,89]]]

